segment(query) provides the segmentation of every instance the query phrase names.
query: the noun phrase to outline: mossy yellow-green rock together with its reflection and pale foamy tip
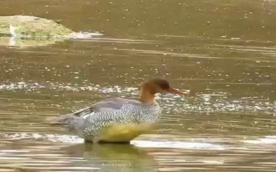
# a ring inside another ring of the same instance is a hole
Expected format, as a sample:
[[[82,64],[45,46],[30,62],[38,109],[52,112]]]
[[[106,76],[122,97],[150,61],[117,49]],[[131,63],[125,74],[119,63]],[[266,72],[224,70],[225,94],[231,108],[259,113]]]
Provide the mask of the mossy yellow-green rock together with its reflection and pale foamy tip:
[[[100,33],[74,32],[53,20],[14,15],[0,16],[0,46],[35,47],[70,38],[91,38]]]

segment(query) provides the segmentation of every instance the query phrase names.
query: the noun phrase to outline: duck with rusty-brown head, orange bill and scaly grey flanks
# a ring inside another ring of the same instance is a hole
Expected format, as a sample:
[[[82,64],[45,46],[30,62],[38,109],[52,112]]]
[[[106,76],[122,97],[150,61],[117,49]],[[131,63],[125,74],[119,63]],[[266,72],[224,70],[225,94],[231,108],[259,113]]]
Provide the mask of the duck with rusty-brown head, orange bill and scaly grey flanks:
[[[157,128],[161,117],[160,106],[155,100],[157,93],[188,94],[175,89],[166,79],[152,78],[140,84],[138,100],[108,98],[61,115],[53,123],[66,126],[72,134],[87,142],[129,143]]]

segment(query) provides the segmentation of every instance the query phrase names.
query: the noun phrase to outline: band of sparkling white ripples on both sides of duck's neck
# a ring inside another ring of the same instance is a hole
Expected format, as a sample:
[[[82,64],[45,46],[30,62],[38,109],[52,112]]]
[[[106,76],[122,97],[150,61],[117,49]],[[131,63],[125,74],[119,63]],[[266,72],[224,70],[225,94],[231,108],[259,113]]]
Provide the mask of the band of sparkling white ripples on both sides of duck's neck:
[[[138,97],[138,88],[121,86],[76,86],[48,82],[46,84],[32,82],[2,83],[0,90],[24,90],[29,92],[41,89],[68,90],[72,92],[92,91],[94,93],[118,93],[120,97]],[[157,94],[156,99],[166,111],[197,111],[197,112],[266,112],[276,113],[276,101],[259,97],[241,97],[230,100],[226,92],[213,92],[211,94],[198,94],[196,96],[181,97],[174,94]]]

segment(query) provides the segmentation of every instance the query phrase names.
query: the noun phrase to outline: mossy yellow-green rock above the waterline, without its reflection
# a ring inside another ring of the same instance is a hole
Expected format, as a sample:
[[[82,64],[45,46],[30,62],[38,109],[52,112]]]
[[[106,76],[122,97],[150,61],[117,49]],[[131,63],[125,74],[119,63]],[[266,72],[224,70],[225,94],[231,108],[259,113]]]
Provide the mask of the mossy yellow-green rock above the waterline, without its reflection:
[[[0,16],[0,34],[13,37],[68,37],[75,32],[53,20],[14,15]]]

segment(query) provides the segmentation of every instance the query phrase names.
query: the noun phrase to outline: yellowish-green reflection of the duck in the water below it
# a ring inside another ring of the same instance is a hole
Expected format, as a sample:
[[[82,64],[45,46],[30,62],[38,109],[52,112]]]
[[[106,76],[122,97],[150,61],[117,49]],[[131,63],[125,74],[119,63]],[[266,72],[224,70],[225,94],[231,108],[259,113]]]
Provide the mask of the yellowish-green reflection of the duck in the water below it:
[[[91,143],[77,144],[64,147],[74,157],[82,157],[86,161],[76,161],[77,166],[86,164],[95,167],[95,171],[132,172],[132,171],[156,171],[154,159],[146,150],[129,144]],[[78,165],[78,163],[80,163]],[[94,170],[93,170],[94,171]]]

